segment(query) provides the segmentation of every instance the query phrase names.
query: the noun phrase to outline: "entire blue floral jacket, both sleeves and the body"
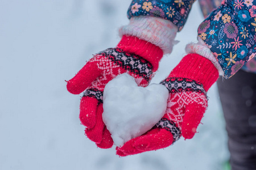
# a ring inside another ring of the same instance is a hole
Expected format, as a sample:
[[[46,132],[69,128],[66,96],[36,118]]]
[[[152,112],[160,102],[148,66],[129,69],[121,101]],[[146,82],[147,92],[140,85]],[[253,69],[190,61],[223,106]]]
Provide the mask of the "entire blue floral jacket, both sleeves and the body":
[[[195,0],[133,0],[127,14],[129,18],[151,15],[167,19],[181,31],[193,2]],[[230,78],[242,67],[256,73],[256,60],[252,59],[256,55],[256,0],[199,2],[203,14],[209,15],[199,25],[198,35],[220,63],[224,77]]]

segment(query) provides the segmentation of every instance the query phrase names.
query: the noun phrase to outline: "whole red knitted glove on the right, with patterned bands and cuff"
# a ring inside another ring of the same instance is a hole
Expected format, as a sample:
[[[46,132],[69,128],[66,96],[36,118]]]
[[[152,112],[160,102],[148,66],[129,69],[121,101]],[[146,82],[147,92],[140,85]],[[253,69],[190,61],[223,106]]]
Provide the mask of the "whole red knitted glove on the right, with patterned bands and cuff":
[[[172,145],[181,135],[191,139],[205,113],[206,92],[218,79],[218,70],[209,59],[188,54],[171,71],[163,84],[170,96],[166,114],[154,128],[118,148],[117,155],[127,156],[158,150]]]

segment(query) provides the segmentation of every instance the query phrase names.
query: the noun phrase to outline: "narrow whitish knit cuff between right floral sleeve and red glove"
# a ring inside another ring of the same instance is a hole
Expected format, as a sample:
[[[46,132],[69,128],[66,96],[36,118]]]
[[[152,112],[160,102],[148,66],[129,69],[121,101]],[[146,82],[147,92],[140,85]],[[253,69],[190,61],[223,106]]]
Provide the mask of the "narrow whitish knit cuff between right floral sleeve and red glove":
[[[217,58],[213,55],[211,50],[208,48],[208,46],[205,44],[205,42],[200,38],[197,37],[198,42],[197,43],[189,43],[186,45],[185,51],[187,54],[199,54],[200,56],[203,56],[207,59],[209,59],[213,65],[218,70],[218,73],[220,75],[224,75],[224,71],[222,70],[220,63],[218,63]]]

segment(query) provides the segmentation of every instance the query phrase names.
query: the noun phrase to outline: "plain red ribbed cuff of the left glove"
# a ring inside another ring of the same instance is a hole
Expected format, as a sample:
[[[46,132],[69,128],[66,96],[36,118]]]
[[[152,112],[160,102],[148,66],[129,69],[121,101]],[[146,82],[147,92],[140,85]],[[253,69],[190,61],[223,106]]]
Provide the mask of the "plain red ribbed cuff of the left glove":
[[[117,48],[122,49],[126,53],[135,54],[146,59],[151,63],[154,72],[158,70],[160,59],[163,57],[163,50],[159,46],[134,36],[123,35]]]

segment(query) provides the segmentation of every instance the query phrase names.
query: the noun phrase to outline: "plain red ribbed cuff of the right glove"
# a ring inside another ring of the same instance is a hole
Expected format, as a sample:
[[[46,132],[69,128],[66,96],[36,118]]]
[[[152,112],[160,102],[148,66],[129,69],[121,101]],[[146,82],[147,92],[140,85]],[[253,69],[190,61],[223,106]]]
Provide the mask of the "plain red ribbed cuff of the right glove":
[[[199,54],[188,54],[181,59],[168,77],[195,80],[203,84],[207,92],[218,79],[218,70],[209,59]]]

